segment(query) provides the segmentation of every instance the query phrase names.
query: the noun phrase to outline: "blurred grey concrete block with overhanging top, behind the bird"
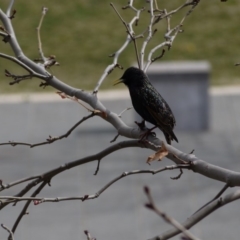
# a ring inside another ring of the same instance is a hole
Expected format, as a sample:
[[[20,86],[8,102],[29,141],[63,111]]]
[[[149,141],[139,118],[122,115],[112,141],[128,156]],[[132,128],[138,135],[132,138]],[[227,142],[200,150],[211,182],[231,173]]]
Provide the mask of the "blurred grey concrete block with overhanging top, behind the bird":
[[[208,130],[210,72],[211,66],[207,61],[169,61],[149,67],[147,73],[152,84],[167,101],[178,121],[176,129]]]

